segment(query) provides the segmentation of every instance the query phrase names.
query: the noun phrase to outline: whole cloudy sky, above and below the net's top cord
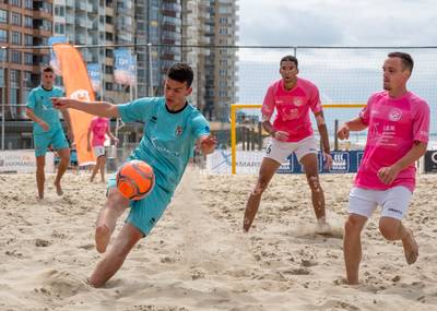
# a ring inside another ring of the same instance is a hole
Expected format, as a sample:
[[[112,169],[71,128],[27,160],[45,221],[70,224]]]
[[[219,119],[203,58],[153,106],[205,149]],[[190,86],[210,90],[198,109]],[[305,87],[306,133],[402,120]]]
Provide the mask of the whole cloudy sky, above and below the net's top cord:
[[[437,47],[435,0],[237,0],[243,46]],[[401,49],[402,50],[402,49]],[[365,104],[382,86],[388,49],[297,49],[299,76],[314,82],[323,104]],[[437,48],[405,49],[415,60],[411,91],[437,113]],[[238,103],[261,104],[280,79],[279,60],[293,49],[238,50]],[[357,115],[326,111],[327,121]],[[255,113],[253,112],[251,113]],[[250,112],[249,112],[250,113]],[[332,128],[332,127],[331,127]],[[331,129],[332,130],[332,129]],[[437,122],[432,122],[437,133]]]

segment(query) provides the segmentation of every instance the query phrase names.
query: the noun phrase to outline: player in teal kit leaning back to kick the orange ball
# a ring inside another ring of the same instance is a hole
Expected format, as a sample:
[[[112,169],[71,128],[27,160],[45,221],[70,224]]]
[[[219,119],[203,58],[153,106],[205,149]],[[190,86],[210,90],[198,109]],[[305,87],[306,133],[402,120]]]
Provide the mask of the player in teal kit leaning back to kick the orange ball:
[[[103,286],[121,266],[133,246],[150,234],[169,204],[176,186],[193,154],[196,144],[203,154],[215,148],[205,118],[187,103],[192,92],[192,69],[186,63],[175,63],[167,72],[164,97],[140,98],[126,105],[86,103],[67,98],[54,98],[60,109],[72,108],[105,118],[118,118],[125,122],[143,122],[144,135],[130,159],[140,159],[152,166],[155,186],[140,201],[123,198],[109,180],[108,199],[96,224],[97,251],[105,253],[117,218],[131,206],[129,216],[113,247],[94,270],[90,284]]]

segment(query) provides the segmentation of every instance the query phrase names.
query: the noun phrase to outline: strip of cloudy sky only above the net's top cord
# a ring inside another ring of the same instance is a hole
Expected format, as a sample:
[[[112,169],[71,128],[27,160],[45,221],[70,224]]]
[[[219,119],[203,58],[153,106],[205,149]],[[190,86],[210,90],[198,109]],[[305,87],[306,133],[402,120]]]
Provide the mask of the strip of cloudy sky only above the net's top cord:
[[[239,45],[437,45],[435,0],[237,0]]]

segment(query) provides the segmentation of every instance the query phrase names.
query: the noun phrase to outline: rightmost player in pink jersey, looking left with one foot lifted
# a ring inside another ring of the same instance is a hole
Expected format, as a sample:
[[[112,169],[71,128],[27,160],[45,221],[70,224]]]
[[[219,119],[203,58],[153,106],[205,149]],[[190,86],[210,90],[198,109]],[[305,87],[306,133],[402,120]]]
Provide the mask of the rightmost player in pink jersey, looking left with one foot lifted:
[[[349,284],[358,283],[361,232],[378,205],[381,205],[382,236],[390,241],[402,241],[409,264],[418,256],[413,232],[404,227],[402,218],[415,186],[414,163],[426,152],[429,107],[406,89],[412,70],[410,55],[389,53],[382,67],[385,91],[370,96],[359,117],[345,122],[338,132],[342,140],[349,137],[350,131],[368,129],[345,223],[343,249]]]

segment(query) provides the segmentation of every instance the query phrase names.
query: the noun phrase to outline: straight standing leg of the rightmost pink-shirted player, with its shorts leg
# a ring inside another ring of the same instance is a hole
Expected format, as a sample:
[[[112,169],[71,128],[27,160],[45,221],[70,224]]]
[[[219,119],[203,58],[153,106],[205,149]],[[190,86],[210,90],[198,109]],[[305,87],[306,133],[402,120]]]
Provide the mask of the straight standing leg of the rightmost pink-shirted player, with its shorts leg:
[[[367,219],[377,207],[374,191],[353,188],[350,193],[349,217],[344,224],[343,253],[347,284],[358,284],[362,261],[362,231]]]

